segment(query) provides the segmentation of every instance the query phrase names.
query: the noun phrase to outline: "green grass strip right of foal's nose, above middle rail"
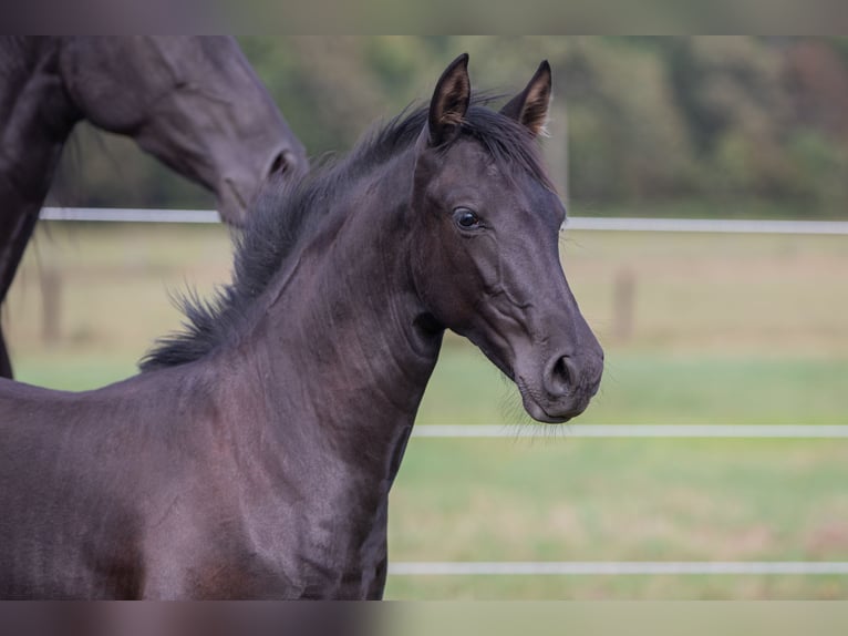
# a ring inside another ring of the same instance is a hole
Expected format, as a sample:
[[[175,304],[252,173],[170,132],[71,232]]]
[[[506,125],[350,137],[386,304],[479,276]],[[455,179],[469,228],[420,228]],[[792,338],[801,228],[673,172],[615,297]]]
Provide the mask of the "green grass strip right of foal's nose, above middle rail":
[[[848,359],[612,355],[587,419],[845,424]]]

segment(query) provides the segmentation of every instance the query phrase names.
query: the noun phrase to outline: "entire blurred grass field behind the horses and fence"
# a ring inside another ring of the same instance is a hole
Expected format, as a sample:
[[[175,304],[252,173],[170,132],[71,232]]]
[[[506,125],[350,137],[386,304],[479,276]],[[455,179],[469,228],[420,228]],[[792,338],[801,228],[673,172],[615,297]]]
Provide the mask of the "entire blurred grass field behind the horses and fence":
[[[570,233],[563,264],[607,351],[581,423],[848,423],[848,239]],[[126,377],[175,329],[166,290],[228,277],[220,227],[44,224],[4,309],[19,378]],[[41,281],[61,280],[45,339]],[[633,281],[631,335],[617,281]],[[516,391],[448,337],[418,424],[527,425]],[[415,439],[394,561],[848,561],[848,440]],[[846,598],[839,576],[390,579],[396,598]]]

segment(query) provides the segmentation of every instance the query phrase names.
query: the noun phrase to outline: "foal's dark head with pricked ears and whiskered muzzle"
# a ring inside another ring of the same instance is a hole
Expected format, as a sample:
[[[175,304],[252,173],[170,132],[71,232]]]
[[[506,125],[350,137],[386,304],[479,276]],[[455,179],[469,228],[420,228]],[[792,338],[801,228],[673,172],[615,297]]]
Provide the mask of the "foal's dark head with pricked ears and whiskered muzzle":
[[[467,62],[439,79],[417,142],[413,277],[433,318],[511,378],[532,418],[563,422],[597,392],[603,351],[566,281],[566,211],[535,147],[550,68],[497,113],[470,104]]]

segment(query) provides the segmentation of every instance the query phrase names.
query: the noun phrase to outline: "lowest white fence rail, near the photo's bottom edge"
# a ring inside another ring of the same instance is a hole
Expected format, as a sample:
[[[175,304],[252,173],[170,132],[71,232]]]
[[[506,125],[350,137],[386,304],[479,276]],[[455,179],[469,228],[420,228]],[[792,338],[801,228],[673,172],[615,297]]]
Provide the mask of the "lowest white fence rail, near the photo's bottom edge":
[[[391,576],[573,576],[573,575],[848,575],[848,562],[396,562],[389,564]]]

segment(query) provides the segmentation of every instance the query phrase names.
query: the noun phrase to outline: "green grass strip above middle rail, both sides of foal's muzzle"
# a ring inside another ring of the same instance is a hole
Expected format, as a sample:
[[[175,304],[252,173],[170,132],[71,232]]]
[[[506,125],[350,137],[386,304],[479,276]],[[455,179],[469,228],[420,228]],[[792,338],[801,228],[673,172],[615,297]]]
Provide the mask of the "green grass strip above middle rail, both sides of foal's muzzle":
[[[848,358],[701,356],[609,348],[583,423],[846,424]],[[420,424],[529,422],[515,387],[476,349],[448,341]]]

